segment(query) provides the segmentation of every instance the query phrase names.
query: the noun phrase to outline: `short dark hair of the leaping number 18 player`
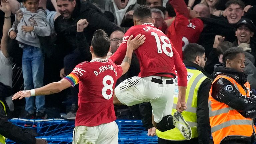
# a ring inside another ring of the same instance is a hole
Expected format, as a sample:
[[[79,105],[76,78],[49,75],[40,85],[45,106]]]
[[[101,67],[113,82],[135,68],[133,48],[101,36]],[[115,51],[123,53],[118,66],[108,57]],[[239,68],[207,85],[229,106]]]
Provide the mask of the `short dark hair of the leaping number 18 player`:
[[[149,7],[147,7],[146,5],[140,5],[134,10],[133,16],[143,19],[147,17],[152,17],[152,13]]]

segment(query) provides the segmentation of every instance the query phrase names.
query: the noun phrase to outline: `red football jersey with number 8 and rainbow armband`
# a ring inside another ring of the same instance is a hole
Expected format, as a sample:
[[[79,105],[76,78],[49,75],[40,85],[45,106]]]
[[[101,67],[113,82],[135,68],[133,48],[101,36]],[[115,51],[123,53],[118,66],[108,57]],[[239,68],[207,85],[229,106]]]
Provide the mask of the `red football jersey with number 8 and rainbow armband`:
[[[75,126],[97,126],[116,120],[113,90],[122,76],[120,65],[107,59],[82,62],[65,77],[72,86],[79,82]]]

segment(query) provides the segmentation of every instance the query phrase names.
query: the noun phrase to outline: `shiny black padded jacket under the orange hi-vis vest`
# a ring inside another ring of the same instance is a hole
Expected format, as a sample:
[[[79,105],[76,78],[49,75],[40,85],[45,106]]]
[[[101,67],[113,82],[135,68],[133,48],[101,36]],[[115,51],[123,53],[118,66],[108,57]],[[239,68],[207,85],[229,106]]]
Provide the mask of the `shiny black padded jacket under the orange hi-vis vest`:
[[[227,68],[222,64],[216,65],[214,68],[213,78],[218,75],[227,75],[232,77],[237,83],[239,83],[247,92],[244,84],[247,81],[247,75],[239,72],[232,68]],[[236,88],[232,91],[227,91],[226,87],[228,85],[233,86],[233,84],[227,79],[220,78],[212,85],[212,97],[219,102],[223,102],[233,109],[240,112],[246,118],[256,117],[256,97],[252,94],[250,97],[242,95]],[[255,97],[255,98],[254,98]],[[241,137],[241,136],[228,136],[222,141],[236,140],[240,139],[245,142],[253,142],[255,140],[255,133],[251,137]]]

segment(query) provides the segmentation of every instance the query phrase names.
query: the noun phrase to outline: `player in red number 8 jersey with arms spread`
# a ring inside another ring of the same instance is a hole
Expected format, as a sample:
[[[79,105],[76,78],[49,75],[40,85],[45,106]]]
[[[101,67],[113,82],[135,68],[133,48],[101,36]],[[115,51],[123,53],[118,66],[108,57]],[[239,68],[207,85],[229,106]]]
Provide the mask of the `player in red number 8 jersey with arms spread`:
[[[81,25],[84,25],[81,30],[83,31],[88,22],[78,21],[77,29],[81,29],[79,28]],[[145,40],[143,35],[138,35],[132,40],[131,38],[128,39],[127,51],[122,64],[116,65],[106,58],[111,49],[107,34],[103,30],[97,30],[91,42],[92,60],[90,62],[78,64],[68,76],[59,82],[33,90],[19,91],[12,98],[49,95],[75,86],[79,82],[79,108],[75,119],[73,144],[117,144],[118,126],[114,121],[116,117],[112,97],[113,89],[116,80],[128,71],[133,50]]]

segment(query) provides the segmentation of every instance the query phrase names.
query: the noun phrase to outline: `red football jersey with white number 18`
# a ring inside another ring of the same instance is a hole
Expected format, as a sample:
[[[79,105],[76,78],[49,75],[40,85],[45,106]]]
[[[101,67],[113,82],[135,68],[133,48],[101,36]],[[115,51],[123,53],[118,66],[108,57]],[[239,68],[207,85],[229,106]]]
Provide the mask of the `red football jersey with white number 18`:
[[[187,86],[187,70],[170,39],[152,23],[131,27],[124,35],[123,42],[110,57],[113,62],[121,64],[126,54],[127,40],[133,35],[145,35],[145,43],[135,50],[140,64],[139,77],[166,76],[176,77],[178,73],[179,86]]]

